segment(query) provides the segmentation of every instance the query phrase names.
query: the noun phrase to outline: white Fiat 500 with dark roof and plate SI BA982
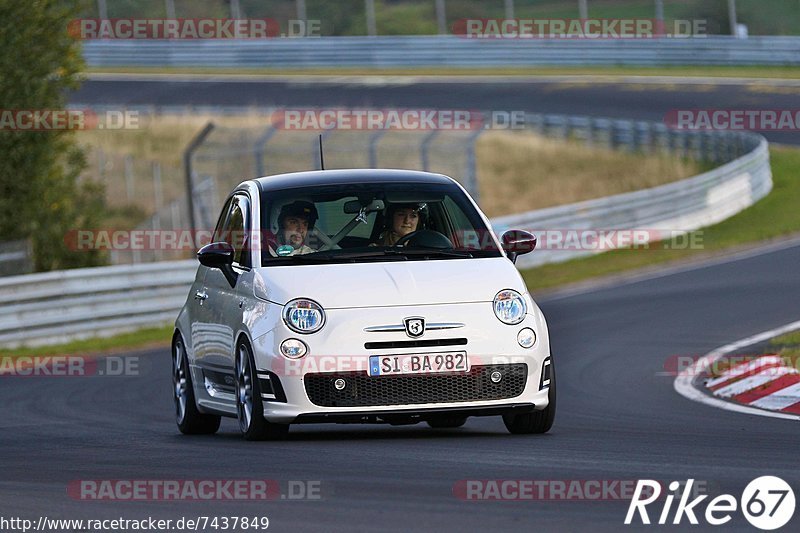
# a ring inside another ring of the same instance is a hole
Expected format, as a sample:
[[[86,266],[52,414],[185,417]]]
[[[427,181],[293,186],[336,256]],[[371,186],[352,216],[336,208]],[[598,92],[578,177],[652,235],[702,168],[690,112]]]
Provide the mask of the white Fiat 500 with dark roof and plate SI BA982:
[[[324,170],[230,194],[172,341],[177,424],[246,439],[290,424],[499,415],[511,433],[555,417],[547,324],[514,266],[536,245],[498,240],[453,179]]]

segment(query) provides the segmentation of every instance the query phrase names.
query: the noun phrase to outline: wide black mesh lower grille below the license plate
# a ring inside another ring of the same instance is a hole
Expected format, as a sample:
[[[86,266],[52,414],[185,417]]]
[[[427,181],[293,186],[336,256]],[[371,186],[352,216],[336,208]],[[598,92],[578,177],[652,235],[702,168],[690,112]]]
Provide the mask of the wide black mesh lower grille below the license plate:
[[[502,373],[500,383],[492,383],[494,371]],[[344,390],[333,382],[342,378]],[[426,374],[410,376],[370,376],[366,372],[306,374],[306,394],[322,407],[364,407],[422,403],[503,400],[522,394],[528,379],[528,365],[475,366],[466,374]]]

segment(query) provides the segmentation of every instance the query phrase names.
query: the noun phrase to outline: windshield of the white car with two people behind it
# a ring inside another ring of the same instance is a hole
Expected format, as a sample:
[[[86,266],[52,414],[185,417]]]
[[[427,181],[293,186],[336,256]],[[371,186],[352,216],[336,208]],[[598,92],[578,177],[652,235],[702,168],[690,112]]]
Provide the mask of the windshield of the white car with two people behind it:
[[[455,185],[353,183],[262,194],[262,264],[499,257]]]

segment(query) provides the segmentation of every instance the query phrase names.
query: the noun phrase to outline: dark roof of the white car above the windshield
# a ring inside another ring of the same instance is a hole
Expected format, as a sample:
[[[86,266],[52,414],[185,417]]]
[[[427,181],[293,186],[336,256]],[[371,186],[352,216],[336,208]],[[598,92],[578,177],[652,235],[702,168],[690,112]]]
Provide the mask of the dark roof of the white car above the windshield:
[[[318,185],[342,185],[351,183],[434,183],[454,185],[452,178],[444,174],[422,172],[418,170],[395,169],[343,169],[343,170],[310,170],[307,172],[291,172],[256,178],[261,192],[280,191],[296,187],[314,187]]]

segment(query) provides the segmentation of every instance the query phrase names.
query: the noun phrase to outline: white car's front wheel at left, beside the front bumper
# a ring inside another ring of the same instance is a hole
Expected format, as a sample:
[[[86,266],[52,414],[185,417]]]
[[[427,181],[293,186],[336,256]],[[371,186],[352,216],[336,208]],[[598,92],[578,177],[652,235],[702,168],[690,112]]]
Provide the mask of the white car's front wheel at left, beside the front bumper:
[[[264,404],[256,378],[250,345],[240,339],[236,345],[236,415],[245,440],[280,440],[289,434],[289,424],[275,424],[264,418]]]

